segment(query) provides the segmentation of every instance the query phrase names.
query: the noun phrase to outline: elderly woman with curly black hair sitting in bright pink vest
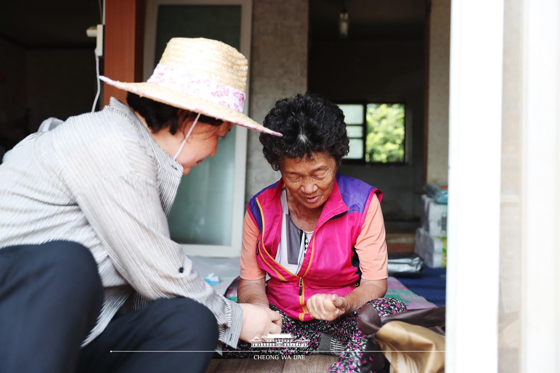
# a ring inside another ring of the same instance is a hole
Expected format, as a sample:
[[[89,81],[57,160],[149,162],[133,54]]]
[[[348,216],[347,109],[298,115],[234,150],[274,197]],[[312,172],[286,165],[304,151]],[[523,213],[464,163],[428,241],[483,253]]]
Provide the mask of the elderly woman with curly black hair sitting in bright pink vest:
[[[249,202],[238,299],[279,311],[283,333],[310,340],[306,353],[340,355],[331,371],[357,372],[366,345],[357,330],[361,306],[371,304],[381,316],[406,309],[383,298],[381,191],[337,172],[349,147],[334,103],[309,93],[284,98],[264,126],[284,135],[260,135],[264,157],[282,178]]]

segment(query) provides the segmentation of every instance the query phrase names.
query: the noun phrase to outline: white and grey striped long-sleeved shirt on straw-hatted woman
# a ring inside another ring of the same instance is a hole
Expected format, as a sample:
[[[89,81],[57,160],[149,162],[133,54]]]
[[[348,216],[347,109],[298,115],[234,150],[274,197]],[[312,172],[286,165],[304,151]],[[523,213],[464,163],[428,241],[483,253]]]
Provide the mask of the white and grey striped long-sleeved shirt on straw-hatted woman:
[[[237,347],[241,306],[192,271],[169,237],[167,214],[182,173],[134,112],[112,97],[102,111],[27,136],[0,164],[0,247],[70,240],[97,262],[105,297],[82,346],[119,309],[130,310],[138,294],[206,305],[220,340]]]

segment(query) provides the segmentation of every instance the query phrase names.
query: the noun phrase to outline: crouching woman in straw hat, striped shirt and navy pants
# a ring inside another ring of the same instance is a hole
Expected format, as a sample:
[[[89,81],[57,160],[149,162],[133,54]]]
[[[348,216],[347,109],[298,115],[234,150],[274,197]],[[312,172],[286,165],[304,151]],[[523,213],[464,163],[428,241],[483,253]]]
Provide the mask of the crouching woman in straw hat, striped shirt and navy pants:
[[[277,312],[232,303],[193,272],[166,220],[181,176],[233,124],[280,135],[242,114],[246,75],[228,45],[171,39],[148,82],[102,77],[129,106],[111,98],[12,150],[0,166],[2,372],[205,371],[218,339],[235,348],[281,330]],[[130,311],[139,298],[149,305]]]

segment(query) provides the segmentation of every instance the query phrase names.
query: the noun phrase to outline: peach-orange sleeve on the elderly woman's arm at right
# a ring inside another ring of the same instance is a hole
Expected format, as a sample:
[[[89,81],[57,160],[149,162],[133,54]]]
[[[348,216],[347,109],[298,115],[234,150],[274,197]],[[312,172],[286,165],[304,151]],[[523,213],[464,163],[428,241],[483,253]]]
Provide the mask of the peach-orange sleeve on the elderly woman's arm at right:
[[[355,247],[364,280],[383,280],[388,277],[385,224],[381,204],[375,195],[366,211]]]

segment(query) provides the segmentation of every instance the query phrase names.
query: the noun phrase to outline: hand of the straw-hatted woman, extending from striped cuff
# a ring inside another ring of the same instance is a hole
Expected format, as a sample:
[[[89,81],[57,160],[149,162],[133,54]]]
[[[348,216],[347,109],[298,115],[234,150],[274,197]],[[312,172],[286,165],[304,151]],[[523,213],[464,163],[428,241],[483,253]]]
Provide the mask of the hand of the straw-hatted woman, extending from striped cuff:
[[[249,342],[254,337],[261,338],[268,333],[282,332],[282,316],[264,305],[240,303],[243,309],[243,323],[239,339]]]

